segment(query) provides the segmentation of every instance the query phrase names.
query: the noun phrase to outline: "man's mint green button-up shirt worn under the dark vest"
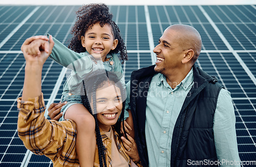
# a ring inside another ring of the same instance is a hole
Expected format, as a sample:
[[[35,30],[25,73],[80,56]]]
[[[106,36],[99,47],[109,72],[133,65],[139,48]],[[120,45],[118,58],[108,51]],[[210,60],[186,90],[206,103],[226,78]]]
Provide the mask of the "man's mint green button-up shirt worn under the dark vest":
[[[153,76],[146,100],[145,136],[150,166],[170,166],[174,126],[187,93],[194,84],[193,69],[172,89],[163,74]],[[126,109],[130,103],[130,82],[126,84]],[[214,115],[214,140],[219,160],[239,161],[236,118],[230,93],[220,91]],[[222,165],[228,166],[228,165]],[[234,165],[230,165],[234,166]],[[240,165],[238,165],[240,166]]]

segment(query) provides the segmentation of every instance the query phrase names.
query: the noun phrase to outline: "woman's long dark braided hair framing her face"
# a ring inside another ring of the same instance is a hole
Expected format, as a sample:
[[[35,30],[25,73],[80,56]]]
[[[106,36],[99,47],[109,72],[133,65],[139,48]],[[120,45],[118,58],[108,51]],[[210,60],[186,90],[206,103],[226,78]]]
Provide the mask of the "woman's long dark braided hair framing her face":
[[[121,97],[122,99],[125,98],[125,90],[119,81],[116,74],[109,72],[109,71],[103,71],[103,70],[97,70],[93,71],[88,74],[87,78],[83,81],[83,90],[81,94],[81,99],[84,107],[86,107],[89,112],[93,115],[95,119],[95,133],[96,133],[96,143],[98,147],[98,154],[99,154],[99,164],[100,167],[106,167],[106,159],[105,159],[105,151],[106,148],[103,146],[102,143],[102,137],[99,130],[99,124],[97,120],[97,112],[96,112],[96,90],[103,87],[106,83],[110,83],[111,85],[115,85],[120,89]],[[90,105],[89,99],[92,99],[92,102]],[[124,107],[125,107],[125,100],[122,102],[122,111],[120,114],[120,118],[118,119],[117,123],[115,124],[115,130],[121,135],[121,122],[124,122]],[[93,110],[92,110],[93,108]],[[124,125],[123,125],[124,130]],[[125,137],[127,138],[126,134]]]

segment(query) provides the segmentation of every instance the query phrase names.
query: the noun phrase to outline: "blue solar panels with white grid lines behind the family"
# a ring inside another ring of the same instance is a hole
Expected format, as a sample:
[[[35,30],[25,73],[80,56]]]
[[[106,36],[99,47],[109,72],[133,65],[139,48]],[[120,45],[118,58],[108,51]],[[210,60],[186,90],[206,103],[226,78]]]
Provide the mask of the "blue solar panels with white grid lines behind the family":
[[[47,157],[27,151],[17,136],[16,99],[22,93],[25,67],[20,46],[30,36],[47,33],[67,46],[78,8],[0,6],[0,167],[52,166]],[[133,70],[154,64],[152,50],[170,24],[188,24],[199,31],[203,46],[196,65],[217,76],[231,93],[240,158],[255,160],[256,7],[110,6],[110,10],[129,53],[129,61],[122,65],[126,82]],[[46,103],[60,100],[65,73],[51,59],[45,63],[42,92]]]

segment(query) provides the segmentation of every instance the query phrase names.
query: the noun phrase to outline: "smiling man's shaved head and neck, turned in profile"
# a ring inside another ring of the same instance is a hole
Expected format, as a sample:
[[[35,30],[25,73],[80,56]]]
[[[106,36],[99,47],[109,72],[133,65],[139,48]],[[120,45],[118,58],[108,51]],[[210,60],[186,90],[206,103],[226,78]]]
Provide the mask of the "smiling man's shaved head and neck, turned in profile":
[[[182,24],[167,27],[153,50],[162,59],[157,60],[155,71],[164,74],[174,89],[191,70],[201,47],[200,34],[194,27]]]

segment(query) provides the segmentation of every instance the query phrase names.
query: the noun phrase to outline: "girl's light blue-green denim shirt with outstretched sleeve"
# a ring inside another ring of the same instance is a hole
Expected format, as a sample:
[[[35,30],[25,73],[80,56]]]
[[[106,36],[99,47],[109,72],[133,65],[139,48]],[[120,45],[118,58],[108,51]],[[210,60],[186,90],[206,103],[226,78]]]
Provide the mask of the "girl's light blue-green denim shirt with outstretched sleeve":
[[[116,54],[106,55],[106,58],[110,58],[114,63],[111,65],[110,61],[94,61],[92,55],[87,51],[77,53],[63,45],[57,39],[53,38],[53,41],[54,47],[50,58],[58,64],[72,70],[63,86],[63,92],[71,92],[72,94],[80,95],[82,79],[86,79],[87,74],[91,71],[99,69],[114,72],[125,88],[123,70]]]

